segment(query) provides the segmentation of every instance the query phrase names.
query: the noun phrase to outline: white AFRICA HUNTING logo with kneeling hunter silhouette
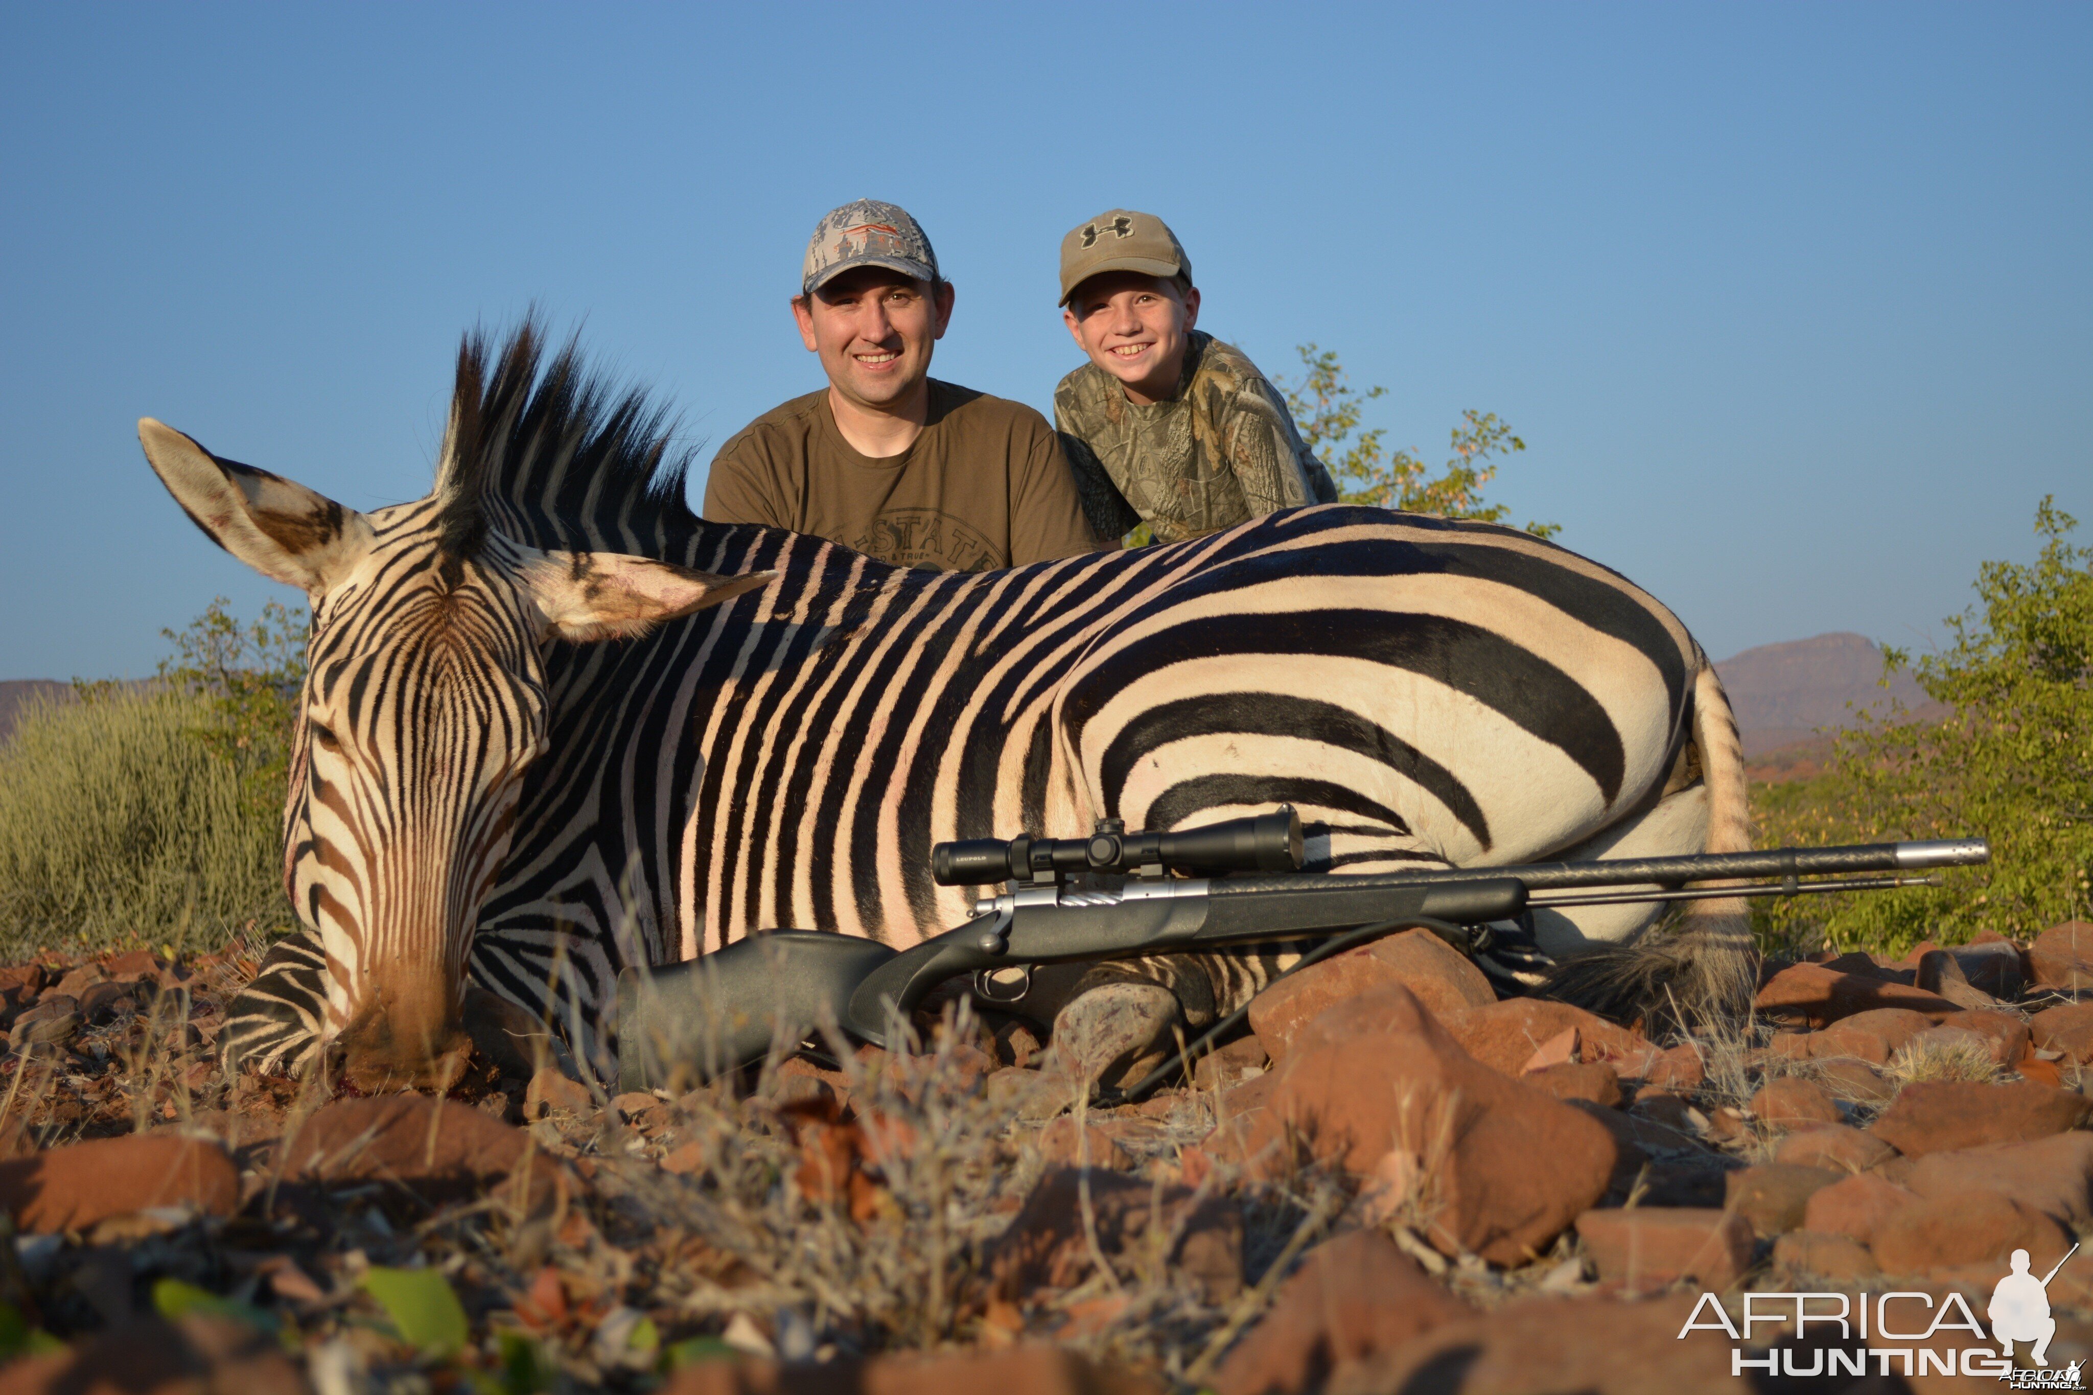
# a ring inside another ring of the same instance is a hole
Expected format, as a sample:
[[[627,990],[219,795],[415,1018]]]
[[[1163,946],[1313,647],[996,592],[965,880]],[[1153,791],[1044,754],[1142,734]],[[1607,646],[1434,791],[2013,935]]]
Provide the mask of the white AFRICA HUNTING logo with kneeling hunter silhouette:
[[[1993,1286],[1990,1303],[1984,1307],[1990,1320],[1988,1332],[1955,1290],[1949,1290],[1938,1307],[1934,1295],[1917,1290],[1743,1293],[1741,1322],[1731,1320],[1716,1295],[1702,1293],[1687,1324],[1679,1328],[1679,1341],[1685,1341],[1687,1332],[1725,1332],[1733,1343],[1729,1351],[1733,1376],[1752,1370],[1769,1376],[1865,1376],[1871,1374],[1873,1362],[1877,1368],[1873,1374],[1880,1376],[1993,1376],[2011,1391],[2083,1391],[2087,1387],[2080,1362],[2062,1370],[2049,1366],[2049,1341],[2057,1334],[2057,1320],[2049,1316],[2049,1280],[2076,1253],[2074,1244],[2049,1274],[2036,1278],[2028,1272],[2028,1251],[2013,1251],[2005,1278]],[[1752,1328],[1760,1324],[1785,1328],[1787,1336],[1750,1355],[1746,1343],[1754,1341]],[[1829,1343],[1823,1336],[1810,1341],[1813,1326],[1819,1330],[1836,1326],[1838,1334]],[[1942,1347],[1938,1339],[1946,1332],[1970,1332],[1978,1341],[1990,1336],[1997,1347]],[[2028,1343],[2024,1357],[2032,1366],[2013,1366],[2016,1343]]]

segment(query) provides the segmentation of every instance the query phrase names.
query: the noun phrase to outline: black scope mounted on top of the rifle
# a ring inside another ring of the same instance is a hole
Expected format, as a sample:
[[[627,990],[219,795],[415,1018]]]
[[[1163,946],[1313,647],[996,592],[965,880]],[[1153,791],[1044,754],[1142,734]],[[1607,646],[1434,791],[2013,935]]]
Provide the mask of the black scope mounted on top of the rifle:
[[[929,849],[940,887],[988,887],[1003,881],[1059,881],[1080,872],[1126,876],[1164,868],[1191,876],[1220,872],[1298,872],[1302,816],[1291,805],[1256,818],[1231,818],[1178,832],[1126,832],[1116,818],[1086,839],[961,839]]]

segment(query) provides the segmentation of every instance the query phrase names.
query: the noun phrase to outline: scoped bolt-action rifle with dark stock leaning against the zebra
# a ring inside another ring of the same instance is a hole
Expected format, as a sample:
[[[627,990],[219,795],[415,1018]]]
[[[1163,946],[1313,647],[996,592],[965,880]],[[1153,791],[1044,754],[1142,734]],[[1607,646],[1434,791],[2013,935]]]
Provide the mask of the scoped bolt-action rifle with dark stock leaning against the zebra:
[[[931,989],[965,975],[975,975],[975,991],[994,1002],[990,975],[1030,973],[1036,964],[1319,939],[1287,970],[1300,973],[1406,929],[1476,954],[1488,947],[1490,922],[1528,910],[1886,891],[1938,885],[1936,876],[1915,874],[1928,868],[1988,860],[1982,839],[1946,839],[1327,876],[1300,872],[1302,826],[1289,807],[1185,832],[1126,832],[1101,820],[1084,839],[940,843],[931,849],[933,881],[1005,889],[975,901],[967,924],[910,950],[896,954],[820,931],[766,931],[682,964],[626,968],[617,981],[620,1088],[651,1090],[678,1065],[710,1079],[760,1060],[772,1046],[791,1050],[816,1029],[898,1046],[894,1025],[906,1027]],[[1208,1029],[1185,1058],[1233,1029],[1243,1012]],[[1136,1098],[1174,1069],[1124,1096]]]

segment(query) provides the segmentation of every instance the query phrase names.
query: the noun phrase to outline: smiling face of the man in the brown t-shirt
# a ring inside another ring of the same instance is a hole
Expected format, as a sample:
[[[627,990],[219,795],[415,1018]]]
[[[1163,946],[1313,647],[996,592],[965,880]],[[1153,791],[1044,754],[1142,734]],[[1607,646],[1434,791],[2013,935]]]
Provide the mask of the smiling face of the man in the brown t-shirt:
[[[906,402],[929,376],[931,347],[952,320],[952,287],[931,295],[927,280],[860,266],[795,299],[791,314],[829,385],[881,410]]]

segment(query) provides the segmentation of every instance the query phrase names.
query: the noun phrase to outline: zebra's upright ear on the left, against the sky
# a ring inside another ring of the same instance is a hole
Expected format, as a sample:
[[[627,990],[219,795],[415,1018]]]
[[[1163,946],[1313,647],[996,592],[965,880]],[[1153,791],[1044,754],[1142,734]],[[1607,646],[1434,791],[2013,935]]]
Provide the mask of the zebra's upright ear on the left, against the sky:
[[[188,521],[264,577],[320,596],[370,550],[370,521],[324,494],[220,460],[151,416],[138,443]]]

